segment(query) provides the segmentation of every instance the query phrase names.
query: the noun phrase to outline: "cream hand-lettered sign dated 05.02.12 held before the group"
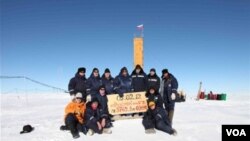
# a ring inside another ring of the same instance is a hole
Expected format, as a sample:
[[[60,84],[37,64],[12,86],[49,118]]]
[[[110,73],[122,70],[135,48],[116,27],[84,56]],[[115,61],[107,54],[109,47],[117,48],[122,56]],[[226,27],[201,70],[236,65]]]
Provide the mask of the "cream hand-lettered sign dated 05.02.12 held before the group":
[[[123,97],[118,94],[107,96],[109,113],[112,115],[147,111],[145,92],[124,93]]]

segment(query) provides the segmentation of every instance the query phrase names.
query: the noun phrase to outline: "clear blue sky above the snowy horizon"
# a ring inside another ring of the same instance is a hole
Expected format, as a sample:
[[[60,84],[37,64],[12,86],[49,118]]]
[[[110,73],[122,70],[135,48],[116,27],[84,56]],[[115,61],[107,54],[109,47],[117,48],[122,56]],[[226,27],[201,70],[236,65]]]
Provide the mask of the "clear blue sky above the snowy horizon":
[[[187,94],[199,81],[206,91],[250,93],[249,0],[2,0],[1,75],[67,89],[81,66],[87,76],[93,67],[131,72],[139,24],[146,72],[168,68]],[[14,88],[23,80],[2,80],[3,92]]]

